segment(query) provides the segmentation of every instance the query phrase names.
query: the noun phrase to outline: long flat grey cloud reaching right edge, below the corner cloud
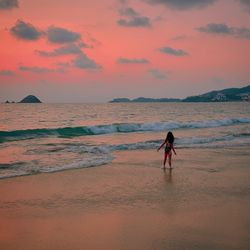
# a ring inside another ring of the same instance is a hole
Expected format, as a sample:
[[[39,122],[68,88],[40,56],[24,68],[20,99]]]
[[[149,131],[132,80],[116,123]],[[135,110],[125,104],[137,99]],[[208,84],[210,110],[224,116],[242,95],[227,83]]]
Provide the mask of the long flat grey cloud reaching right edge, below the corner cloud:
[[[197,30],[213,35],[229,35],[236,38],[250,39],[250,29],[245,27],[230,27],[224,23],[209,23],[206,26],[197,28]]]

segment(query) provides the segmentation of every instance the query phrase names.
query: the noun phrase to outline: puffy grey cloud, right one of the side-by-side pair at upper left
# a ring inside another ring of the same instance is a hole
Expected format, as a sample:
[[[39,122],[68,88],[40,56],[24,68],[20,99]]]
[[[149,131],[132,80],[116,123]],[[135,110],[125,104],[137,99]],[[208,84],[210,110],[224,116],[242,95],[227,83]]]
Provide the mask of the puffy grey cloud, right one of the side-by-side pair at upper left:
[[[72,43],[81,39],[80,33],[54,26],[48,28],[47,36],[52,43]]]

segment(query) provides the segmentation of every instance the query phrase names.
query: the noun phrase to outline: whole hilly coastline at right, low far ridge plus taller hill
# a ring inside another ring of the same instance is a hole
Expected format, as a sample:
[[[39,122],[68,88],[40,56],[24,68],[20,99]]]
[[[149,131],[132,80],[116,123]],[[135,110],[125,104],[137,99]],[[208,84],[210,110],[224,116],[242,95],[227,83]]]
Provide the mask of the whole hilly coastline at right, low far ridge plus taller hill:
[[[243,88],[228,88],[223,90],[214,90],[197,96],[189,96],[185,99],[177,98],[145,98],[136,99],[115,98],[111,103],[119,102],[230,102],[230,101],[250,101],[250,85]]]

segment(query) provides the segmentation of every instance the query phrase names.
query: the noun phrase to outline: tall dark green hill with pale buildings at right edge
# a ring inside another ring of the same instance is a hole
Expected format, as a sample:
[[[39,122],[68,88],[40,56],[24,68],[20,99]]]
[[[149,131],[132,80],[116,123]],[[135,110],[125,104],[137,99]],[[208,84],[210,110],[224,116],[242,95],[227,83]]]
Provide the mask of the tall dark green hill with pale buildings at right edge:
[[[183,102],[228,102],[228,101],[249,101],[250,85],[243,88],[229,88],[211,91],[202,95],[189,96]]]

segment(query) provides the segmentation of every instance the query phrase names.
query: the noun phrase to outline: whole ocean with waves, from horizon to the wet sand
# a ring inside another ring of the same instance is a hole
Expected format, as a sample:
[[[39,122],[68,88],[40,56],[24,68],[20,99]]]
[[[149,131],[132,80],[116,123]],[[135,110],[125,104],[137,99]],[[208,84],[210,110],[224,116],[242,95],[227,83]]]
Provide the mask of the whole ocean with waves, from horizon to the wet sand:
[[[250,149],[249,102],[1,104],[0,115],[0,178],[98,167],[117,151],[156,150],[168,131],[178,154]]]

